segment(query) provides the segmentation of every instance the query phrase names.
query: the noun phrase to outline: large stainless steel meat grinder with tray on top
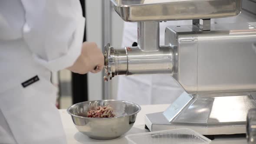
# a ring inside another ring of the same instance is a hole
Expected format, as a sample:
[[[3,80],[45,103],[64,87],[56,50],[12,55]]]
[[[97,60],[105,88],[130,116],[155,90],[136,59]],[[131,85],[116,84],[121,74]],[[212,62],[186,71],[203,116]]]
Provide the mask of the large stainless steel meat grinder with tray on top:
[[[123,20],[138,22],[138,46],[105,46],[105,80],[116,75],[170,74],[185,90],[166,111],[146,115],[150,131],[246,133],[247,111],[256,107],[251,95],[256,91],[256,23],[210,23],[240,14],[242,0],[112,3]],[[193,23],[167,26],[165,45],[160,46],[159,23],[169,20]]]

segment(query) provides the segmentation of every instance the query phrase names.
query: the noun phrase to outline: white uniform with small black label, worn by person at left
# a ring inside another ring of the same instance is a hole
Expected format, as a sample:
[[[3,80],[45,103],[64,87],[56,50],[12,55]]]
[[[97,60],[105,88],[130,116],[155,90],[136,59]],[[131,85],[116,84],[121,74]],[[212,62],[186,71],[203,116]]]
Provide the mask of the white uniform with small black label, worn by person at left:
[[[50,77],[80,55],[84,26],[78,0],[0,0],[0,144],[66,143]]]

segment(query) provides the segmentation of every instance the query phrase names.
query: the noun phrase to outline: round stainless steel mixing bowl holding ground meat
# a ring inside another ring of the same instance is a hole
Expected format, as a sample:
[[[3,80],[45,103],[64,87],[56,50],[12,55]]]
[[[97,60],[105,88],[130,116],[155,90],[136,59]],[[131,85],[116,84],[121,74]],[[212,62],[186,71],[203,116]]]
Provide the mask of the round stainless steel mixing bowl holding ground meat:
[[[90,109],[107,105],[113,108],[115,118],[87,118],[87,111]],[[82,134],[93,139],[109,140],[128,132],[140,110],[139,105],[128,101],[99,100],[77,103],[69,107],[67,112]]]

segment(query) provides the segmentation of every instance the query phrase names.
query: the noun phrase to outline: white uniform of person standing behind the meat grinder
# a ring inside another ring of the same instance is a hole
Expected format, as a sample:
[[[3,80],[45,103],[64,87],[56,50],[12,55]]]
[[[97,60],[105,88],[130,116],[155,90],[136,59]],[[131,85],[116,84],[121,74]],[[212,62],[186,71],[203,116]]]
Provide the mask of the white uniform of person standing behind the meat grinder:
[[[211,20],[211,23],[233,23],[236,18]],[[167,21],[160,23],[160,45],[164,45],[164,30],[170,25],[191,25],[192,20]],[[124,24],[122,47],[137,42],[137,23]],[[170,104],[183,88],[169,74],[162,75],[120,75],[118,80],[118,99],[132,101],[138,105]]]

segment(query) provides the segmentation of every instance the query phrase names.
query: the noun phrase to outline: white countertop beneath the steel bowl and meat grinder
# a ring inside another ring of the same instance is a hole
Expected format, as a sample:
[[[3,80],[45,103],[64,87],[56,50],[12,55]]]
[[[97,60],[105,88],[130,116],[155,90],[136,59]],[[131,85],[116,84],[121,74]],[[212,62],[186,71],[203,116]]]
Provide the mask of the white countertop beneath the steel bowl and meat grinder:
[[[127,134],[136,134],[148,132],[148,130],[144,129],[144,115],[154,112],[164,111],[169,105],[142,105],[141,111],[138,113],[137,119],[133,128],[128,131]],[[69,114],[67,114],[66,109],[59,110],[62,124],[64,127],[64,131],[66,133],[66,138],[68,144],[128,144],[128,141],[123,136],[107,141],[100,141],[90,139],[89,137],[83,135],[75,128],[72,118]],[[247,144],[246,138],[232,137],[232,138],[217,138],[213,140],[211,144]]]

